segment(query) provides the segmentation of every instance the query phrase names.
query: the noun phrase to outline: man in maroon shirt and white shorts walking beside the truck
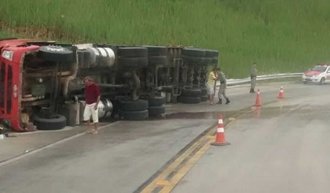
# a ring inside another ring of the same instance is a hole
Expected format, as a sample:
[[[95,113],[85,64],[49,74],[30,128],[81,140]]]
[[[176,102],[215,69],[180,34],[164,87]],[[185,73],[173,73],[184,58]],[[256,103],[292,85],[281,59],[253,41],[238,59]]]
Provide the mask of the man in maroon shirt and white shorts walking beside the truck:
[[[94,83],[93,79],[89,76],[84,78],[85,83],[85,110],[83,113],[83,120],[87,122],[88,130],[87,133],[98,133],[98,109],[97,106],[100,102],[100,90],[99,87]],[[93,118],[95,128],[92,129],[90,125],[90,116]]]

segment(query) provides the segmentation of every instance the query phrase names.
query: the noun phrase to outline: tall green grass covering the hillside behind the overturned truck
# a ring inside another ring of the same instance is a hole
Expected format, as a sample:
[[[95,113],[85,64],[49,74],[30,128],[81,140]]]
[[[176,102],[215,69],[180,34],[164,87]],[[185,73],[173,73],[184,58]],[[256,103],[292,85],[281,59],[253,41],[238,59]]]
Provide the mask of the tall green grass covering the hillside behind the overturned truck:
[[[252,62],[262,74],[330,62],[329,10],[328,0],[1,0],[0,21],[61,42],[217,49],[227,77],[239,78]]]

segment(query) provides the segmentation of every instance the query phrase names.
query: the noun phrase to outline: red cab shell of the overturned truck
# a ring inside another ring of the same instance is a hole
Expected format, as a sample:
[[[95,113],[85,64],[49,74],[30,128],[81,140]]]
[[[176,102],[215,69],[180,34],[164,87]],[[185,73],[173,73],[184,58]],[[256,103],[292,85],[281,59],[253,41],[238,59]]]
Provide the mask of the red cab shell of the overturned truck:
[[[22,66],[26,54],[38,52],[40,46],[33,45],[33,42],[43,43],[26,39],[0,40],[0,121],[15,131],[26,131],[21,127],[19,120]]]

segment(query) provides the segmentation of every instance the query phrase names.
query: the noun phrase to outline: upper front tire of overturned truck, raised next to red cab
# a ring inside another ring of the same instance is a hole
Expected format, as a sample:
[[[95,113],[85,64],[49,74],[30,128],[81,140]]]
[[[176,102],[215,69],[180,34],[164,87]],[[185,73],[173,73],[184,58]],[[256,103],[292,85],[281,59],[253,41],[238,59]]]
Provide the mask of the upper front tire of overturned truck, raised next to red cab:
[[[58,45],[41,46],[37,56],[45,61],[70,63],[73,61],[73,51]]]

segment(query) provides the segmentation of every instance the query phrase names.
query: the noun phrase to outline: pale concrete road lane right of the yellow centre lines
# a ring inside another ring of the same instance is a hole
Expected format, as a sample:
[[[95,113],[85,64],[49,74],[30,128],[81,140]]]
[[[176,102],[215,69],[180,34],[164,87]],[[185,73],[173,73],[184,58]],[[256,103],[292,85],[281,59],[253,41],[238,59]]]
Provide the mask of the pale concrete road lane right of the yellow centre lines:
[[[317,93],[237,119],[231,145],[211,146],[173,192],[330,192],[329,118],[330,94]]]

